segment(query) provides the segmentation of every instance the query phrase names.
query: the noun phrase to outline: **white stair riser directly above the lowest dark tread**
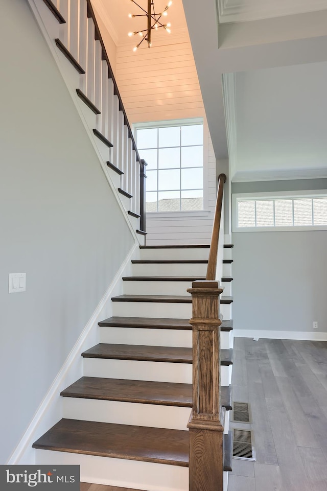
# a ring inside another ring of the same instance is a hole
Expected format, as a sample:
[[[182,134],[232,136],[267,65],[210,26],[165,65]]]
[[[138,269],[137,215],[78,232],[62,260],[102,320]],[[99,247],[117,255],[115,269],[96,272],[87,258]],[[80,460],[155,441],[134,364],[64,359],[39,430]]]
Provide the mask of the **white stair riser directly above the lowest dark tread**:
[[[97,399],[63,398],[63,417],[119,425],[187,430],[191,408]]]

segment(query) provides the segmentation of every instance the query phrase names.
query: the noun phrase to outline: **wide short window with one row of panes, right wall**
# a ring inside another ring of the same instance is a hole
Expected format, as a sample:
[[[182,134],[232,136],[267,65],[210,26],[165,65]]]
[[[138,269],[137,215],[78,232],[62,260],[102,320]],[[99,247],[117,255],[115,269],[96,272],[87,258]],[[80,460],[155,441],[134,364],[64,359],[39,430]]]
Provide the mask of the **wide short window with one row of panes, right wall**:
[[[327,193],[233,195],[233,231],[327,229]]]

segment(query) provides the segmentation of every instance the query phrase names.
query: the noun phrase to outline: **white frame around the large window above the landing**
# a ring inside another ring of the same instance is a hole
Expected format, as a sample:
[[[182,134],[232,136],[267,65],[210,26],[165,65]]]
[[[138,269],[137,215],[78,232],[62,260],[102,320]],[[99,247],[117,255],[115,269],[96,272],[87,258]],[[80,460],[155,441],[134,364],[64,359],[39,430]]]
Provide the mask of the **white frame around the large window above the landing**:
[[[165,218],[165,217],[187,217],[187,216],[205,216],[209,215],[208,210],[208,128],[204,118],[186,118],[176,120],[149,121],[144,123],[133,123],[133,134],[136,141],[136,130],[146,128],[165,128],[169,126],[191,126],[203,125],[203,209],[200,210],[179,210],[172,212],[147,212],[147,216]]]

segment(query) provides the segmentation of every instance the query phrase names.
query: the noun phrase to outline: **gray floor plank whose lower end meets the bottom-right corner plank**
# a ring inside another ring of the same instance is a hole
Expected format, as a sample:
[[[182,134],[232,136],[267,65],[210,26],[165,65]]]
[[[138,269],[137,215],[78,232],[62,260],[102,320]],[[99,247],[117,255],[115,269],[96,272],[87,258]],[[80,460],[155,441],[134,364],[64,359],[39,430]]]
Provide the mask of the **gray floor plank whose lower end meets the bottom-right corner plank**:
[[[313,434],[308,418],[294,393],[292,382],[287,377],[277,377],[276,381],[293,428],[296,445],[319,448],[319,443]]]

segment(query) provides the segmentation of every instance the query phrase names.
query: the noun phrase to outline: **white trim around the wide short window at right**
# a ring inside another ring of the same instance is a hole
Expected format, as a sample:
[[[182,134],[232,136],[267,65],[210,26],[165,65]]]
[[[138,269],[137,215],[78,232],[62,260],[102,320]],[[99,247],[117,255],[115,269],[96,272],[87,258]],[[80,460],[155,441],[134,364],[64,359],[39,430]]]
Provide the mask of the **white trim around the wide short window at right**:
[[[275,191],[263,193],[232,194],[232,232],[296,232],[311,230],[327,230],[327,225],[301,225],[285,227],[238,227],[238,201],[253,201],[256,199],[294,199],[294,198],[327,198],[327,190]]]

